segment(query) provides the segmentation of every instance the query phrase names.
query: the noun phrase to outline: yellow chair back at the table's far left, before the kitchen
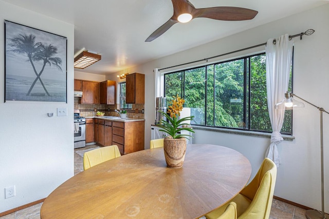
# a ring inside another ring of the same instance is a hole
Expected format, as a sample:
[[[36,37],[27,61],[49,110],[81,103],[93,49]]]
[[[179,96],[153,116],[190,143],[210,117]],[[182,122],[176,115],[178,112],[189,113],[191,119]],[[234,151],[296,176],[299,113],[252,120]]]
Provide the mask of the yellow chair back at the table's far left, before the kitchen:
[[[118,146],[111,145],[87,151],[83,155],[83,169],[89,169],[102,162],[121,156]]]

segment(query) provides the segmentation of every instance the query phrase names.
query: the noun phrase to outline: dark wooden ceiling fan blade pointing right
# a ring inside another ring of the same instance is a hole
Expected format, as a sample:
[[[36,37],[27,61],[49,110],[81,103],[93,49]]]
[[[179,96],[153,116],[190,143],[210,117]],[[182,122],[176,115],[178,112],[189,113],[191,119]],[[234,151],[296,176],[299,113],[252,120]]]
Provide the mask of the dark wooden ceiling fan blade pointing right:
[[[258,11],[239,7],[198,8],[192,12],[193,18],[207,17],[221,21],[245,21],[254,18]]]

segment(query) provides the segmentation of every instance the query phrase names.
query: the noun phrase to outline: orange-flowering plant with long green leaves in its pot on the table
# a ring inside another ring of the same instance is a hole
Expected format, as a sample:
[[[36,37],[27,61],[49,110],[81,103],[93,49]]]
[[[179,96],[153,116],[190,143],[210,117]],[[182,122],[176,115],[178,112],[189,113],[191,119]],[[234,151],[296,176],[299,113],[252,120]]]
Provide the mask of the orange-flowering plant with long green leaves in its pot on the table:
[[[186,153],[186,139],[185,137],[192,137],[189,134],[181,134],[181,131],[186,130],[193,132],[187,121],[193,120],[193,116],[179,118],[180,111],[184,108],[185,100],[178,95],[173,96],[174,99],[170,102],[172,105],[168,107],[168,114],[159,111],[167,118],[161,120],[160,130],[167,133],[169,136],[163,140],[163,151],[167,166],[170,168],[182,167]]]

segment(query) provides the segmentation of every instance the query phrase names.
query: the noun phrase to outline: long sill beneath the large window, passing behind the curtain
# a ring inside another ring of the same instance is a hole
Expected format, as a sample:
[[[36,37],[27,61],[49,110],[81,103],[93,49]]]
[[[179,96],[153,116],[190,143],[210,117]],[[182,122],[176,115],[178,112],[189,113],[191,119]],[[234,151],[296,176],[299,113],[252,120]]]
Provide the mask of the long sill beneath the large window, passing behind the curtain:
[[[205,130],[205,131],[222,132],[222,133],[229,133],[229,134],[241,134],[241,135],[271,138],[271,133],[266,133],[266,132],[224,129],[224,128],[214,128],[214,127],[205,127],[205,126],[192,126],[192,127],[195,130]],[[295,136],[292,136],[292,135],[283,134],[282,137],[283,137],[283,140],[285,140],[285,141],[294,141],[294,139],[295,139]]]

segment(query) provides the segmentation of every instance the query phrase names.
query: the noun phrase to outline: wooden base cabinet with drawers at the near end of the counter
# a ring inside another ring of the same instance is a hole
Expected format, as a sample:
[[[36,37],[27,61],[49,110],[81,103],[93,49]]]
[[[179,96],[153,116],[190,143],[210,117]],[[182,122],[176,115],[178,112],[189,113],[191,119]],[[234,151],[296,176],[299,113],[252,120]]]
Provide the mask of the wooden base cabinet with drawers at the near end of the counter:
[[[144,121],[112,122],[112,145],[121,155],[144,150]]]

